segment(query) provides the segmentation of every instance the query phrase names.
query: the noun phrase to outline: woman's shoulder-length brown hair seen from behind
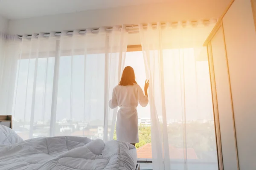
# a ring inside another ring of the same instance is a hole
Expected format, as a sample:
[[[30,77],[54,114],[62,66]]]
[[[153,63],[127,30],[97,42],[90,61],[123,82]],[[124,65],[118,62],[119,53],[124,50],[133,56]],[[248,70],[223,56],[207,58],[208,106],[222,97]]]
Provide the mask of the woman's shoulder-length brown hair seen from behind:
[[[118,83],[118,85],[126,86],[134,85],[134,83],[137,84],[135,81],[134,69],[130,66],[127,66],[122,73],[121,81]]]

